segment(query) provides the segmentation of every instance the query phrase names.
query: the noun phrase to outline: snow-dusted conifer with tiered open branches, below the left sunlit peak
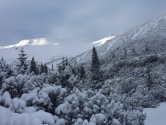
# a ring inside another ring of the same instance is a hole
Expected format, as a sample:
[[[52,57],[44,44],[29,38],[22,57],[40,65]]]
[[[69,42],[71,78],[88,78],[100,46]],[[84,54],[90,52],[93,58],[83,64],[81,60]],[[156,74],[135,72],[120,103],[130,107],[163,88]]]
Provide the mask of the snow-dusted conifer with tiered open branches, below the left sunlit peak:
[[[17,67],[18,70],[21,70],[22,73],[24,73],[27,70],[27,64],[26,64],[27,54],[25,54],[24,52],[25,52],[24,49],[21,48],[20,54],[18,54],[19,58],[17,58],[19,60],[19,64],[17,65]]]

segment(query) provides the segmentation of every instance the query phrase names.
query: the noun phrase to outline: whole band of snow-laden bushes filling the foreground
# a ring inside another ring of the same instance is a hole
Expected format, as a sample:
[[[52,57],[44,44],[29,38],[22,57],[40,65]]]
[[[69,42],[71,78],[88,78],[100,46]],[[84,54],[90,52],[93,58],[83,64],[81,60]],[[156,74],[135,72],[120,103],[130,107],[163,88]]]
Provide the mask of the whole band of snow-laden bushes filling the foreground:
[[[115,101],[112,96],[104,95],[102,89],[80,91],[78,88],[74,88],[68,93],[61,86],[45,83],[41,85],[35,83],[33,85],[36,87],[32,89],[27,84],[34,83],[37,78],[26,76],[29,80],[31,79],[31,82],[26,80],[21,89],[26,91],[22,93],[21,97],[17,95],[12,98],[10,92],[16,88],[6,85],[11,80],[17,82],[18,77],[10,77],[2,85],[0,91],[2,125],[144,124],[145,115],[141,108],[126,110],[120,101]],[[22,76],[20,81],[23,81],[24,77]],[[19,84],[21,83],[19,82]]]

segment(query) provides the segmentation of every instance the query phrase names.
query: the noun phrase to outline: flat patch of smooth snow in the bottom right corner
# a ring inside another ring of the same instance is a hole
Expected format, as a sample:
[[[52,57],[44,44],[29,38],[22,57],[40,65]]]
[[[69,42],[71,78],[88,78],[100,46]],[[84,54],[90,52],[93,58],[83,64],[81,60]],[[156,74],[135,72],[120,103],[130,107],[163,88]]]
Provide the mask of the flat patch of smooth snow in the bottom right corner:
[[[166,125],[166,102],[163,102],[157,108],[145,108],[147,113],[145,125]]]

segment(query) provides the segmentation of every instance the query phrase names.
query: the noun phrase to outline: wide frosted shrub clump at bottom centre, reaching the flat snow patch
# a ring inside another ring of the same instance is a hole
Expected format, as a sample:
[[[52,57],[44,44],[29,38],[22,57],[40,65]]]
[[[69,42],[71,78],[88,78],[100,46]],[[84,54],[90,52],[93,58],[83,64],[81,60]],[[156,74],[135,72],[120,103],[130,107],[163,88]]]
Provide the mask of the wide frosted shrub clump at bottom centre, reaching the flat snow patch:
[[[67,124],[76,125],[82,125],[84,120],[96,125],[122,123],[127,125],[127,122],[133,121],[141,125],[145,119],[142,110],[125,111],[122,103],[111,100],[101,91],[80,92],[76,88],[65,98],[65,103],[56,108],[55,113],[64,118]],[[129,117],[131,113],[136,117]]]

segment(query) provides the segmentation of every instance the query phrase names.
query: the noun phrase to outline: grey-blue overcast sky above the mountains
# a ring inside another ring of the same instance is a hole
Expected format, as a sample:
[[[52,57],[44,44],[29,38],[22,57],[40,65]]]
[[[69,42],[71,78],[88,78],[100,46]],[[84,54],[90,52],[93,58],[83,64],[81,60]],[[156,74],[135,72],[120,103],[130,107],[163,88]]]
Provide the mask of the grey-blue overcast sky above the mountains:
[[[0,0],[0,46],[23,39],[93,42],[166,10],[166,0]]]

